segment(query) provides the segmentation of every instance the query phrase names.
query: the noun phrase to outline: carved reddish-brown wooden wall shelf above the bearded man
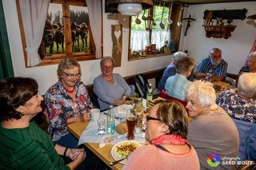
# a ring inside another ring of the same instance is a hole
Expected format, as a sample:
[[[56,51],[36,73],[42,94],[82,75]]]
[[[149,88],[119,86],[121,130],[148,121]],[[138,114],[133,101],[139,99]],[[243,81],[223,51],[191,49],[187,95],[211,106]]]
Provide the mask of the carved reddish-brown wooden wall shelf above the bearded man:
[[[230,38],[236,26],[206,26],[206,38]]]

